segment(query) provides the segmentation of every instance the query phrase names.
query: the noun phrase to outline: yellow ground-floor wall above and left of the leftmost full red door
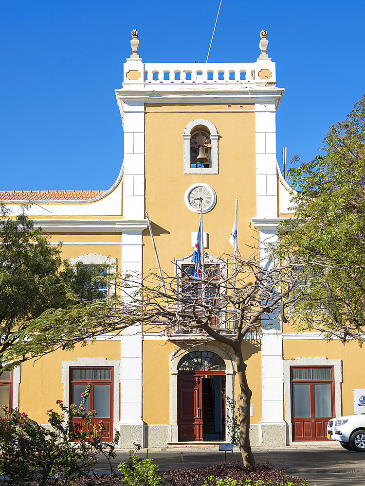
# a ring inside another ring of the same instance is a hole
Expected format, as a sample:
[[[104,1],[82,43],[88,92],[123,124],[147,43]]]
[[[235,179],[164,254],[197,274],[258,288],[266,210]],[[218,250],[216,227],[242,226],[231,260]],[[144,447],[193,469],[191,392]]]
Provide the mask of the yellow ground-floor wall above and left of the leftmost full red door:
[[[39,423],[47,423],[46,411],[58,411],[57,399],[63,399],[62,361],[77,358],[107,358],[120,360],[119,341],[96,341],[88,346],[76,346],[73,351],[55,351],[41,359],[21,365],[19,410]]]

